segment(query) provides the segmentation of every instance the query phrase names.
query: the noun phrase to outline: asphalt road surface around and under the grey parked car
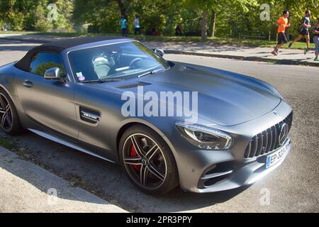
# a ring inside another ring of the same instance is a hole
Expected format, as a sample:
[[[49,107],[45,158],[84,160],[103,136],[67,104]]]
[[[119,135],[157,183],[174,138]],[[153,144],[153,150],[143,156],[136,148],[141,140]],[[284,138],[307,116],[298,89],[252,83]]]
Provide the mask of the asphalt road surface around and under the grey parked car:
[[[32,45],[36,44],[0,40],[0,65],[18,60]],[[16,143],[18,155],[127,211],[318,212],[319,68],[189,55],[165,57],[247,74],[279,89],[294,110],[290,133],[293,149],[284,163],[251,187],[211,194],[175,189],[157,198],[135,189],[117,165],[33,133],[6,138]],[[267,195],[269,204],[261,203]]]

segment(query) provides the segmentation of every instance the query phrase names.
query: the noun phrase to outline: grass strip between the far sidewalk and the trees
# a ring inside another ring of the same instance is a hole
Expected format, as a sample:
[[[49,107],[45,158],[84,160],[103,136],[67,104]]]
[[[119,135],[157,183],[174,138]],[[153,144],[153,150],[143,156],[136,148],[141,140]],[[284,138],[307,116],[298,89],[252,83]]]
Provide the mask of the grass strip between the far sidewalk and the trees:
[[[0,34],[23,34],[23,35],[55,35],[61,37],[79,37],[79,36],[94,36],[94,35],[114,35],[118,36],[119,34],[112,33],[39,33],[32,31],[0,31]],[[133,35],[129,35],[130,38],[133,38]],[[140,38],[138,38],[140,40]],[[258,39],[239,39],[239,38],[208,38],[206,41],[202,41],[199,36],[165,36],[165,35],[147,35],[146,41],[162,41],[162,42],[194,42],[194,43],[206,43],[207,45],[243,45],[250,47],[259,47],[259,48],[273,48],[276,45],[276,41],[269,40],[258,40]],[[292,49],[303,49],[306,47],[306,43],[296,42],[291,47]],[[310,43],[310,48],[314,48],[315,45]],[[284,45],[283,48],[288,48],[288,45]]]

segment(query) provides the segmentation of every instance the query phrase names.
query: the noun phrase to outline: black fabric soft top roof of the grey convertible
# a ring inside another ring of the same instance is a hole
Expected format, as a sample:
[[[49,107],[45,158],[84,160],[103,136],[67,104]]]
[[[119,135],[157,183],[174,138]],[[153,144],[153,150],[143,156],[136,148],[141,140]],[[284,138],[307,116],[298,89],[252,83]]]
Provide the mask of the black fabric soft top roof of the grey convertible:
[[[38,52],[54,52],[60,53],[65,49],[73,48],[78,45],[84,45],[86,43],[96,43],[105,40],[116,40],[122,37],[116,36],[91,36],[91,37],[79,37],[79,38],[69,38],[65,40],[58,40],[52,43],[45,43],[43,45],[39,45],[31,50],[29,50],[26,55],[21,58],[18,62],[16,62],[16,67],[20,70],[28,72],[30,69],[30,62],[32,58]]]

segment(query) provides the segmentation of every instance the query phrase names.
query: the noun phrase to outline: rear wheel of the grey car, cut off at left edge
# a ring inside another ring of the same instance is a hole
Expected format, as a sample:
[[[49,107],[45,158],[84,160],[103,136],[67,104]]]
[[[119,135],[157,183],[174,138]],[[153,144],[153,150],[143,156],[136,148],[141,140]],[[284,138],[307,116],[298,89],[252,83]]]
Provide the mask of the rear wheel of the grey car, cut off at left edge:
[[[6,109],[9,106],[10,109]],[[9,126],[11,118],[11,126]],[[9,135],[18,135],[23,132],[23,128],[10,96],[0,88],[0,127]]]

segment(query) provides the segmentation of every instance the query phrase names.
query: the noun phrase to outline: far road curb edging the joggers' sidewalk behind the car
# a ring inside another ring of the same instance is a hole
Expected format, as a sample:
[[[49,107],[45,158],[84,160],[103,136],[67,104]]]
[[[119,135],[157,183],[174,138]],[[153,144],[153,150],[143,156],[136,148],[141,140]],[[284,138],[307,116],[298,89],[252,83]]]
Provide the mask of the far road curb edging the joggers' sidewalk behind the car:
[[[50,43],[51,40],[43,40],[43,39],[23,39],[23,38],[14,38],[14,37],[1,37],[0,40],[16,40],[16,41],[23,41],[29,43]],[[67,39],[67,38],[66,38]],[[315,62],[298,62],[296,60],[276,60],[276,59],[269,59],[264,57],[244,57],[244,56],[237,56],[237,55],[218,55],[218,54],[210,54],[205,52],[190,52],[190,51],[180,51],[180,50],[170,50],[170,49],[163,49],[167,54],[174,54],[174,55],[195,55],[195,56],[203,56],[203,57],[218,57],[218,58],[227,58],[227,59],[235,59],[235,60],[245,60],[245,61],[254,61],[254,62],[269,62],[279,65],[304,65],[304,66],[313,66],[319,67],[318,63]]]

